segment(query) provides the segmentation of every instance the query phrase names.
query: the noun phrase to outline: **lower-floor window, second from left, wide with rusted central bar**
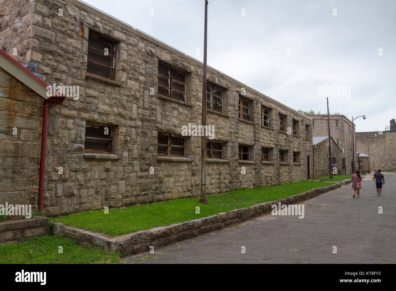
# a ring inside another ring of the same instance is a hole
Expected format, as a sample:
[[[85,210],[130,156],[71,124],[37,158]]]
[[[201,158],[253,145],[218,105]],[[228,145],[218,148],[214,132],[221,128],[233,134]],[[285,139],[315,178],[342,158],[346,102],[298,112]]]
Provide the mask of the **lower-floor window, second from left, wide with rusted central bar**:
[[[186,140],[179,135],[158,133],[158,156],[185,156]]]

